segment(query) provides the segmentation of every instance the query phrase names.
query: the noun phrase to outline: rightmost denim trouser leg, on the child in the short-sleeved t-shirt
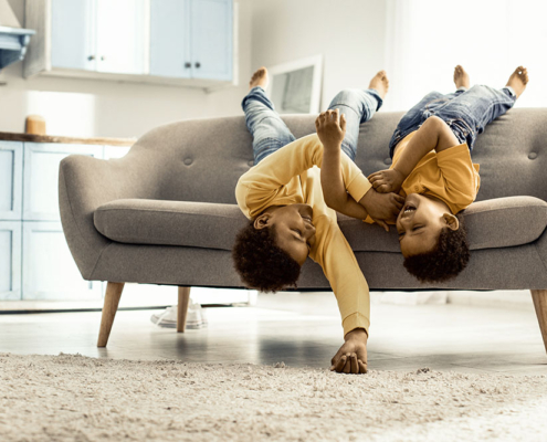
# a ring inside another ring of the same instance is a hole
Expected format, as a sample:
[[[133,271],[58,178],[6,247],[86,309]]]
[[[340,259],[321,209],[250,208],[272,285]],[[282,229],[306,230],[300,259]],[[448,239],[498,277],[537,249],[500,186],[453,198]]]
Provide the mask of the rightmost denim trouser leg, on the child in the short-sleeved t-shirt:
[[[516,96],[505,87],[495,90],[475,85],[436,109],[435,115],[451,127],[461,143],[467,143],[470,150],[473,150],[476,136],[484,131],[488,123],[511,109],[515,101]]]

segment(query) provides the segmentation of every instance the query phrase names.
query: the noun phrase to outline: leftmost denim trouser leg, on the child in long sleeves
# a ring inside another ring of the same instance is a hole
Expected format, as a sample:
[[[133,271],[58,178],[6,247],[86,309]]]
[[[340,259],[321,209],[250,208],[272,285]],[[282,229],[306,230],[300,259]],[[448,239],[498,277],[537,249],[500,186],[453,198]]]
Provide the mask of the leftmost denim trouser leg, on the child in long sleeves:
[[[246,127],[253,136],[255,165],[295,140],[262,87],[253,87],[243,98],[241,107],[245,113]]]

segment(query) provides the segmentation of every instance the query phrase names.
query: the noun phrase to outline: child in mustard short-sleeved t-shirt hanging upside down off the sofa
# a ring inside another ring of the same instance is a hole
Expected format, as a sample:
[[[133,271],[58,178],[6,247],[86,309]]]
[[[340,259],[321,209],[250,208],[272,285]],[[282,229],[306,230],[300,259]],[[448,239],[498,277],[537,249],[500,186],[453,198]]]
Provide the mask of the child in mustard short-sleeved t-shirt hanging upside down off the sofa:
[[[455,93],[432,92],[402,117],[389,146],[390,169],[368,177],[377,191],[406,197],[397,231],[404,267],[421,282],[451,280],[466,266],[460,212],[475,200],[481,183],[471,151],[484,127],[513,107],[528,73],[518,66],[502,90],[469,90],[469,74],[457,65],[454,83]]]

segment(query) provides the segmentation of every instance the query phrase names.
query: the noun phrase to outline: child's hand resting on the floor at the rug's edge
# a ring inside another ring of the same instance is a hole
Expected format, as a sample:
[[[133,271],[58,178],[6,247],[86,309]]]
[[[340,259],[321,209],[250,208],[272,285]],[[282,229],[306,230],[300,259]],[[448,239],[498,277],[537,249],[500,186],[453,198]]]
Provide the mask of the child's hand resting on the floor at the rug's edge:
[[[346,341],[330,360],[330,371],[362,375],[367,372],[367,333],[362,328],[349,332]]]

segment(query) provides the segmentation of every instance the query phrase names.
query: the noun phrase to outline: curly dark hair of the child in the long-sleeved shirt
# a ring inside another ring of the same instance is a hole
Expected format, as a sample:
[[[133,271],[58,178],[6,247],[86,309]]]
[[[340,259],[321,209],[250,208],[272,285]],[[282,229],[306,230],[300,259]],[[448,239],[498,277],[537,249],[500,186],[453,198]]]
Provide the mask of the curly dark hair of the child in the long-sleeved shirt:
[[[273,228],[255,229],[254,220],[235,236],[235,270],[248,288],[277,292],[296,287],[301,265],[276,244]]]

